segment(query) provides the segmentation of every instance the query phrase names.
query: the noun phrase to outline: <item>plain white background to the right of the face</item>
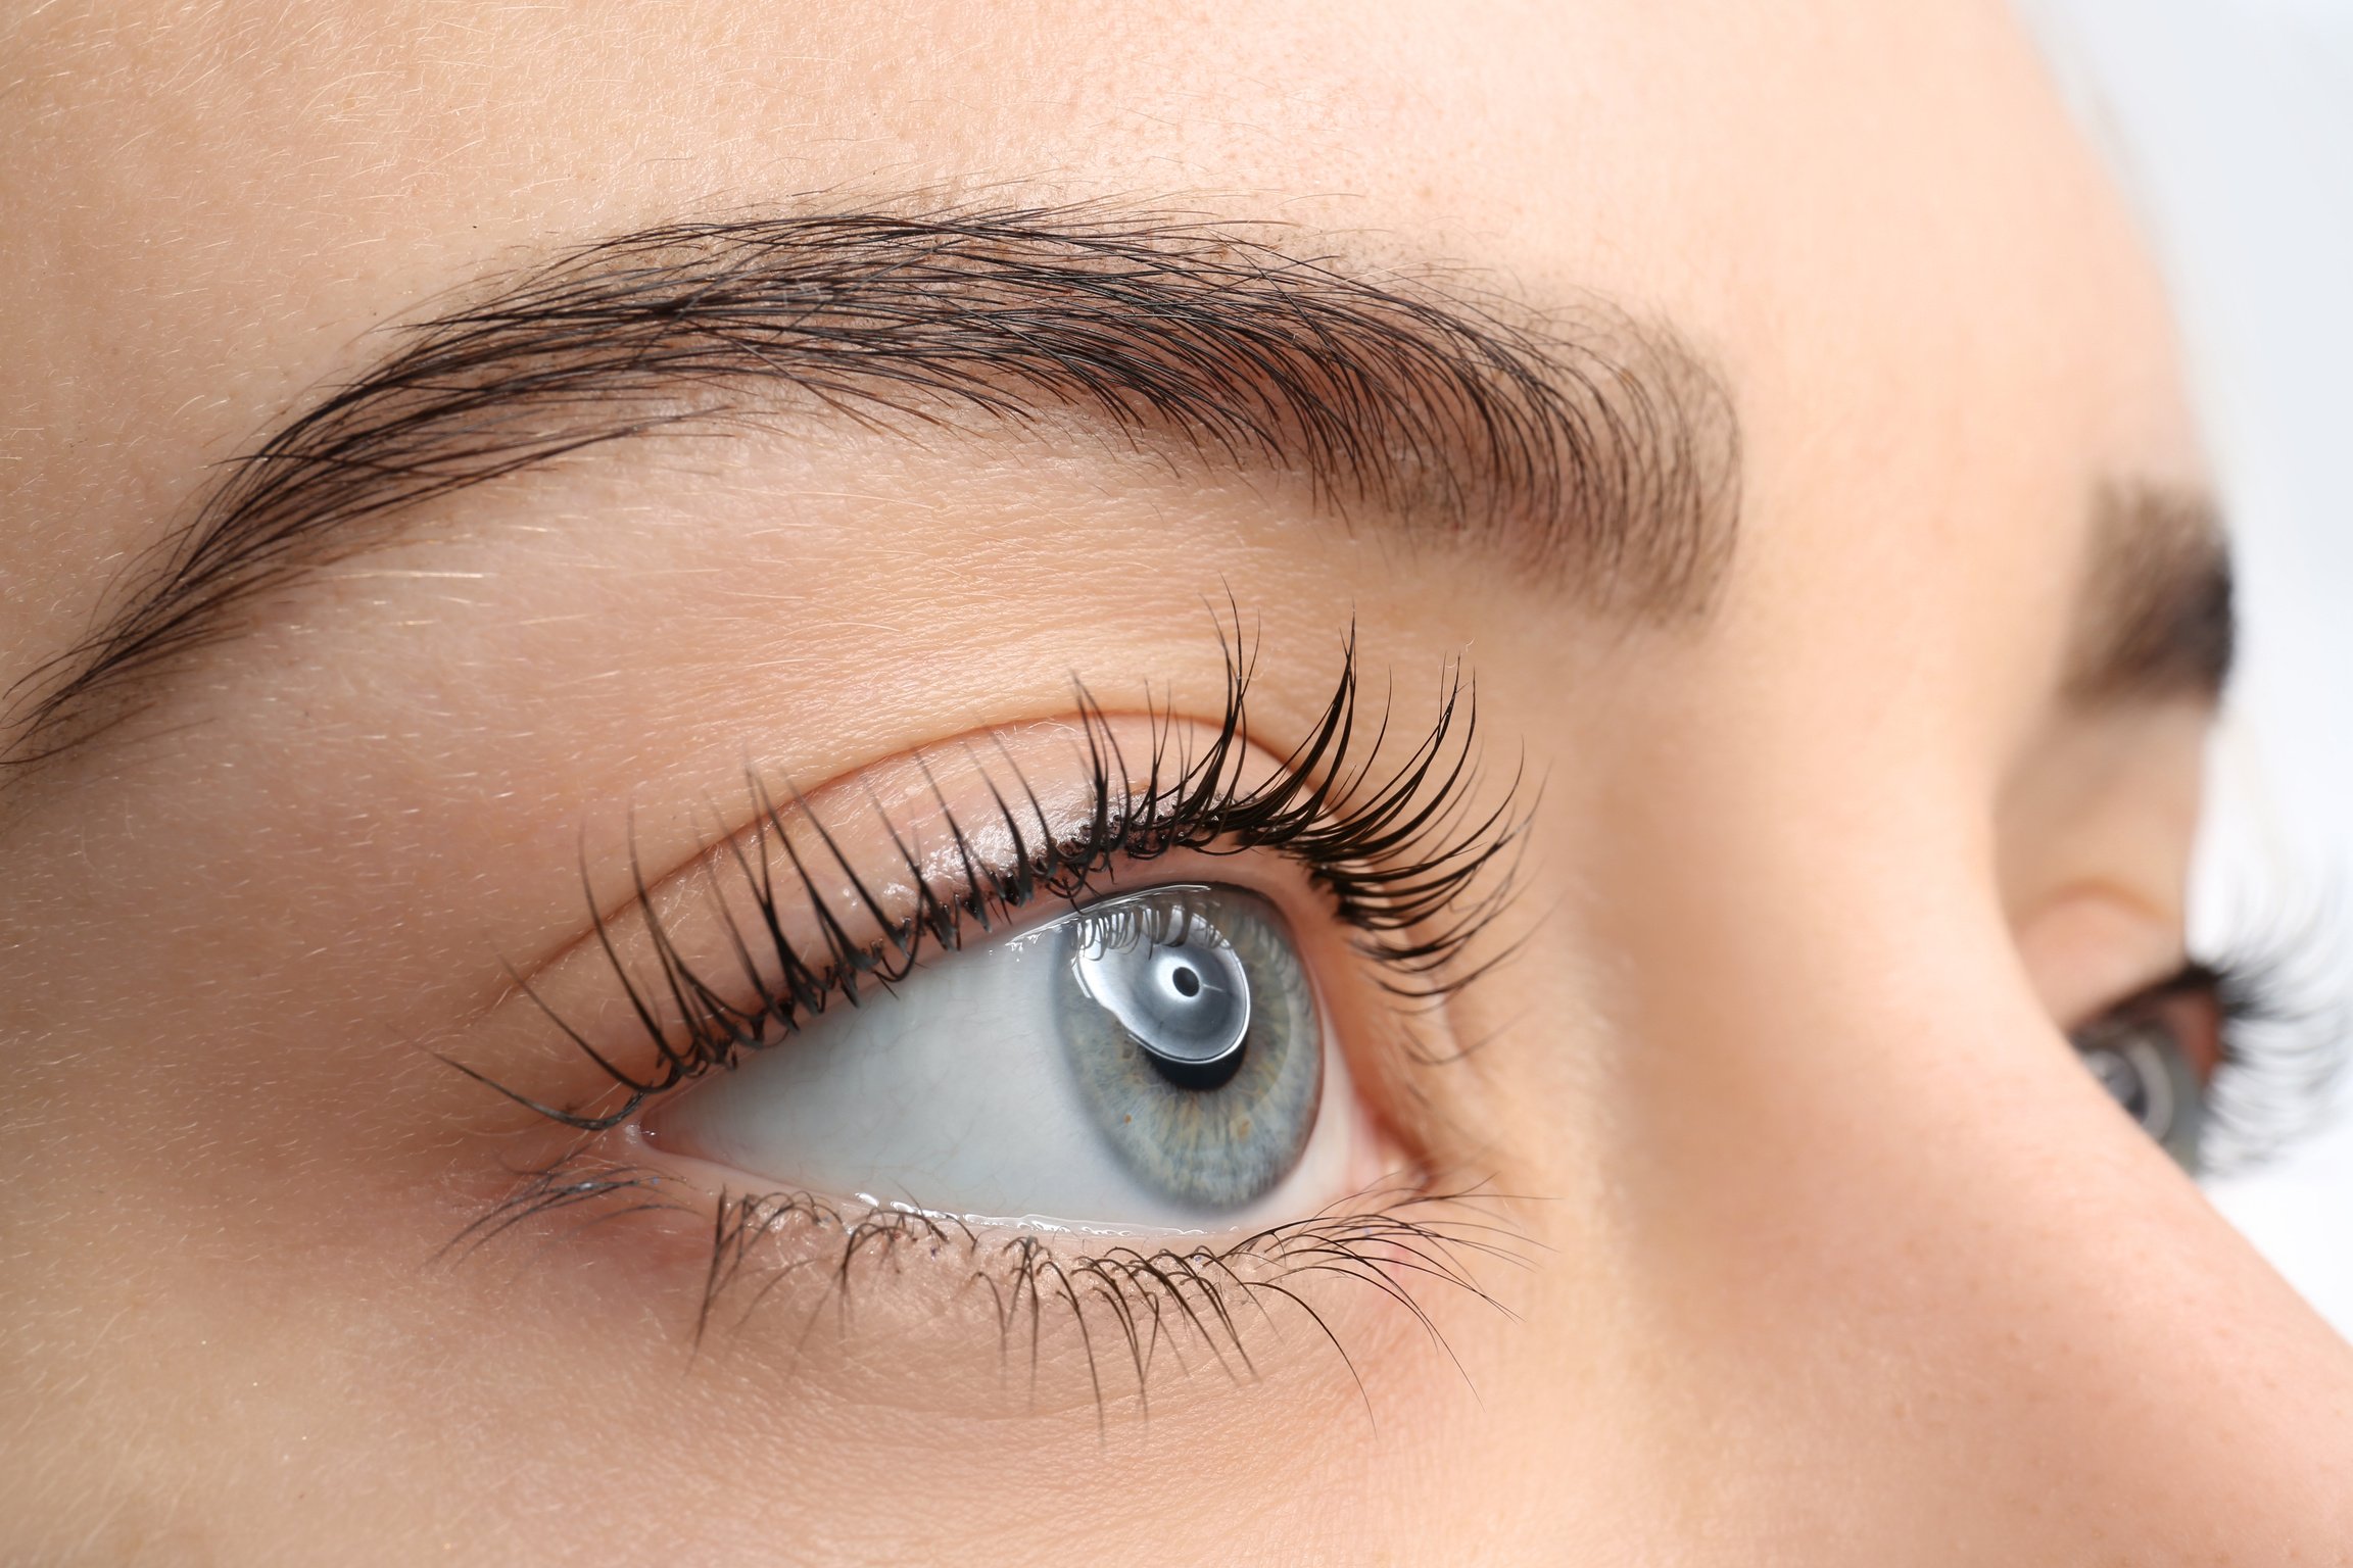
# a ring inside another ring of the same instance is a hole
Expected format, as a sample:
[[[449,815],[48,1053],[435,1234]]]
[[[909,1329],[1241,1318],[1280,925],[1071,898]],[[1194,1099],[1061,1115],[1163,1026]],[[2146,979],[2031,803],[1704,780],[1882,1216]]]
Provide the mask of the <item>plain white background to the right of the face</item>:
[[[2193,924],[2313,910],[2353,999],[2353,0],[2026,0],[2174,282],[2245,663]],[[2214,1201],[2353,1333],[2353,1114]]]

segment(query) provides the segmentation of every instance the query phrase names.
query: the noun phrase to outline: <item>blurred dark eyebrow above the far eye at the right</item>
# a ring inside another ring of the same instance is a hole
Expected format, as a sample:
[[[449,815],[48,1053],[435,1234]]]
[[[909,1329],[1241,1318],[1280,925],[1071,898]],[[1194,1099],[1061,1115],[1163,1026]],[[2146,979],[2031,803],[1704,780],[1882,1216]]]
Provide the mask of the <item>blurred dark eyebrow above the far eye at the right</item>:
[[[2238,616],[2214,498],[2111,484],[2097,505],[2064,696],[2087,708],[2219,701]]]

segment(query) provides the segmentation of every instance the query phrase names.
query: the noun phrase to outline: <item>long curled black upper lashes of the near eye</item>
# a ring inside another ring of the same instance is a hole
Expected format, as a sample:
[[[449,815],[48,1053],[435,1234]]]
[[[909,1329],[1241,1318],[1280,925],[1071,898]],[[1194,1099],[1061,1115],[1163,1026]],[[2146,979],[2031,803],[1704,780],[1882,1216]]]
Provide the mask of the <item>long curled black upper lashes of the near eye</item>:
[[[899,867],[885,870],[904,870],[915,889],[915,907],[904,914],[882,907],[868,891],[875,872],[861,875],[816,813],[805,811],[807,827],[826,858],[824,870],[840,875],[849,886],[852,907],[831,907],[816,886],[819,867],[802,860],[802,851],[784,830],[776,799],[758,776],[751,776],[755,827],[748,837],[755,839],[758,856],[746,851],[746,835],[736,835],[725,839],[725,860],[704,860],[706,867],[739,872],[760,914],[753,931],[732,914],[720,919],[751,985],[748,1004],[706,980],[678,952],[654,912],[645,872],[631,853],[631,907],[645,922],[659,980],[649,985],[621,957],[612,922],[600,912],[593,889],[588,889],[588,912],[598,947],[654,1046],[652,1072],[633,1074],[614,1063],[518,976],[522,992],[555,1027],[626,1091],[616,1107],[584,1112],[546,1105],[464,1063],[449,1065],[553,1121],[605,1131],[628,1121],[647,1100],[713,1067],[732,1065],[746,1051],[774,1044],[779,1032],[805,1027],[831,1001],[856,1006],[861,987],[896,985],[918,966],[927,945],[955,950],[967,926],[991,931],[1040,898],[1082,903],[1096,891],[1096,879],[1118,863],[1153,860],[1172,851],[1282,853],[1306,867],[1308,879],[1332,898],[1334,914],[1355,929],[1355,947],[1386,971],[1379,985],[1393,997],[1405,1004],[1431,1004],[1468,985],[1508,954],[1506,947],[1478,964],[1466,959],[1511,903],[1515,851],[1525,842],[1529,820],[1520,799],[1525,783],[1520,771],[1513,771],[1492,809],[1473,816],[1471,797],[1478,795],[1482,776],[1475,691],[1468,675],[1459,663],[1447,668],[1428,733],[1384,769],[1384,750],[1391,750],[1388,717],[1384,708],[1367,741],[1367,729],[1358,722],[1362,686],[1351,628],[1322,715],[1264,783],[1245,788],[1242,769],[1252,755],[1247,693],[1257,654],[1245,651],[1238,621],[1235,616],[1231,635],[1228,625],[1219,623],[1226,693],[1209,741],[1198,752],[1188,750],[1193,729],[1174,708],[1155,708],[1146,698],[1151,755],[1139,759],[1141,776],[1122,752],[1101,703],[1085,684],[1075,684],[1092,799],[1085,823],[1075,830],[1054,832],[1028,778],[1007,757],[1016,785],[1012,799],[993,778],[986,773],[981,778],[1014,853],[1007,865],[988,865],[974,856],[969,835],[934,785],[962,872],[960,886],[941,891],[885,818],[901,860]],[[807,806],[798,790],[791,790],[788,799]],[[784,851],[784,877],[776,849]],[[800,900],[814,914],[819,936],[814,950],[786,936],[786,922],[779,917],[786,898]],[[849,924],[859,924],[861,914],[880,931],[878,938],[859,940],[849,933]],[[762,976],[753,959],[755,945],[772,954],[774,978]],[[661,1023],[664,1004],[678,1025]]]

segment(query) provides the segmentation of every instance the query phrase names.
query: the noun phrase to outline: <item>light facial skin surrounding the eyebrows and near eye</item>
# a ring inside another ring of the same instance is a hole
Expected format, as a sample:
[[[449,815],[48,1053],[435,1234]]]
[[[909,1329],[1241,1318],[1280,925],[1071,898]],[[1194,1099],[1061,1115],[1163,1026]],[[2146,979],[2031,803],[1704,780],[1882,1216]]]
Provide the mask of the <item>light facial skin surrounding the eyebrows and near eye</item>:
[[[1141,197],[1617,301],[1715,367],[1744,480],[1706,625],[1275,482],[833,428],[534,473],[289,590],[0,785],[0,1556],[2346,1561],[2353,1359],[2064,1039],[2181,957],[2207,712],[2057,691],[2092,496],[2198,454],[2000,9],[9,26],[0,679],[369,327],[809,190]],[[1271,731],[1353,616],[1405,733],[1468,651],[1544,780],[1527,945],[1438,1025],[1487,1046],[1421,1084],[1511,1194],[1508,1312],[1428,1295],[1447,1354],[1339,1291],[1362,1396],[1294,1324],[1146,1420],[1066,1338],[1007,1394],[920,1269],[694,1352],[694,1227],[438,1260],[546,1133],[428,1053],[586,1093],[501,969],[595,1011],[584,853],[612,886],[633,813],[666,875],[746,762],[845,778],[1073,672],[1214,719],[1226,588]]]

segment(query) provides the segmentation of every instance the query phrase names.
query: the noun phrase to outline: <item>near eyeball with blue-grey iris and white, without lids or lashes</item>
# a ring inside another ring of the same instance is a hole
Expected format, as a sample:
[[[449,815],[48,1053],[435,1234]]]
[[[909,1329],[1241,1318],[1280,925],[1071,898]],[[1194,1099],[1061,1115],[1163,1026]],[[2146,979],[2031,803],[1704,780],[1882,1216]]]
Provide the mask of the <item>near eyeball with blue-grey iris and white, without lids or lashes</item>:
[[[1226,1227],[1346,1190],[1344,1079],[1280,910],[1179,884],[944,952],[642,1131],[784,1187],[967,1218]]]

